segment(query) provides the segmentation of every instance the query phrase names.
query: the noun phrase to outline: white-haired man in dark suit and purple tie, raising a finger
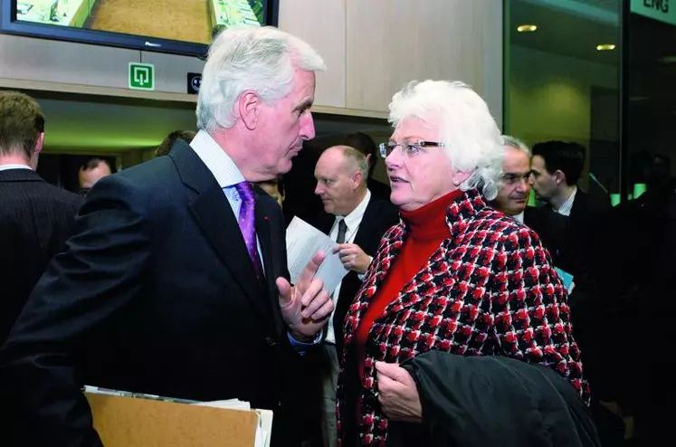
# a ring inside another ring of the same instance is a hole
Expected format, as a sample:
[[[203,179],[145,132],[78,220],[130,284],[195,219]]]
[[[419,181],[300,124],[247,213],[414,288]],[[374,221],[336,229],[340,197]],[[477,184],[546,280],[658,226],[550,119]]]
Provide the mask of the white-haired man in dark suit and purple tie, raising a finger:
[[[273,444],[300,443],[294,365],[333,308],[314,279],[324,255],[290,285],[280,206],[252,182],[289,171],[314,137],[324,68],[275,28],[224,31],[192,142],[94,185],[0,352],[17,445],[100,446],[82,385],[239,398],[275,412]]]

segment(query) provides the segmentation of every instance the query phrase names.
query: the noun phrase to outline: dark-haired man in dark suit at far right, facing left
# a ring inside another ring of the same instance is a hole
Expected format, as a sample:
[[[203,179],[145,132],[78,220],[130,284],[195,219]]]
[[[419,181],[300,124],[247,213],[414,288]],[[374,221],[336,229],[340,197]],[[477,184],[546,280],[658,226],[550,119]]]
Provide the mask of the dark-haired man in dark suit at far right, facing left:
[[[623,421],[599,401],[614,401],[614,358],[608,356],[607,340],[598,334],[608,327],[614,296],[609,282],[616,272],[603,249],[611,222],[610,201],[600,201],[577,187],[585,166],[586,149],[577,143],[547,141],[532,148],[533,188],[538,199],[554,213],[567,216],[567,225],[557,267],[573,275],[570,293],[571,318],[576,339],[584,353],[586,375],[595,392],[592,413],[604,445],[617,445],[624,434]],[[616,357],[615,357],[616,358]]]

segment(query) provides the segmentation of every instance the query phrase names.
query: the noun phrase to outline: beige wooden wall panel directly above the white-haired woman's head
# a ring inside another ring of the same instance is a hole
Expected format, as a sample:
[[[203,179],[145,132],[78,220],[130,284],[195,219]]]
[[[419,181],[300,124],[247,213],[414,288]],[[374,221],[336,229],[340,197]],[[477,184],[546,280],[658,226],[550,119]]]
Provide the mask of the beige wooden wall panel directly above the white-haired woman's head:
[[[501,2],[346,1],[349,109],[386,111],[395,91],[416,79],[464,81],[490,91],[491,102],[497,90],[501,96]],[[490,106],[500,115],[501,99]]]

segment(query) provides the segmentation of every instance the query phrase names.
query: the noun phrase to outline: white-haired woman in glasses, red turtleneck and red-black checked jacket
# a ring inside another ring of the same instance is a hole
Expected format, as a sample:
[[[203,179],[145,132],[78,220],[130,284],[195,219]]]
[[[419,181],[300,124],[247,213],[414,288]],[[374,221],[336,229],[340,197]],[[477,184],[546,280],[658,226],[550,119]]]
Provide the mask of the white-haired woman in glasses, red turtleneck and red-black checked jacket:
[[[593,442],[566,290],[538,237],[486,204],[504,153],[487,105],[462,82],[413,81],[389,119],[402,219],[345,320],[342,445]]]

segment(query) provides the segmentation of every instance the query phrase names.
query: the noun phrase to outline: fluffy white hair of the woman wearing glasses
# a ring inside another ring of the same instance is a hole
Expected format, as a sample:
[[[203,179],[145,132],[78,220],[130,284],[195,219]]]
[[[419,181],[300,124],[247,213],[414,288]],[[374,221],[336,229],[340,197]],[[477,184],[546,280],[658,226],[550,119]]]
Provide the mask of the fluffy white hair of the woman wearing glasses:
[[[439,142],[452,166],[471,176],[460,188],[479,188],[488,200],[498,195],[504,147],[500,129],[486,102],[460,81],[411,81],[390,102],[389,121],[396,127],[416,117],[439,119]]]

